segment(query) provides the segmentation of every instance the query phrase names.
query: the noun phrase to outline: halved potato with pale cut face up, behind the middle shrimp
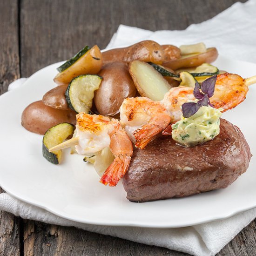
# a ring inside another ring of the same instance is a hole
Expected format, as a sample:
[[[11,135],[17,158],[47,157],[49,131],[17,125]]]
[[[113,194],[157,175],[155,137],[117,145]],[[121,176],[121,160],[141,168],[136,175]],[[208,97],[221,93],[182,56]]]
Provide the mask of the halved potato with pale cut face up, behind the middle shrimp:
[[[171,86],[154,67],[143,61],[131,61],[129,73],[141,96],[162,101]]]

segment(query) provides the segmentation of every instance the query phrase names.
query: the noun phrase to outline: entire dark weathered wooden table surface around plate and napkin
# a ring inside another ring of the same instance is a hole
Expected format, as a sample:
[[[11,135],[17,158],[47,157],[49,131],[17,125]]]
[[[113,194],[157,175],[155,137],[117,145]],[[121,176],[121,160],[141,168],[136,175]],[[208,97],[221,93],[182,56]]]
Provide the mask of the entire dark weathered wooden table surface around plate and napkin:
[[[119,24],[153,31],[180,30],[214,17],[234,2],[0,0],[0,94],[7,91],[13,80],[66,60],[84,45],[106,47]],[[217,255],[256,255],[255,231],[254,220]],[[0,212],[0,255],[187,254]]]

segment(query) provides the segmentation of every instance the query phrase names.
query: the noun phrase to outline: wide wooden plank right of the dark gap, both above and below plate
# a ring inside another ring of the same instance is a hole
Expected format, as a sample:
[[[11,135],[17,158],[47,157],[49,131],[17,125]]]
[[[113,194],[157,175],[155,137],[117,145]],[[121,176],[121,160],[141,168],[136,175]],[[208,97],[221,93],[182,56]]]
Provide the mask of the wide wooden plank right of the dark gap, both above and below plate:
[[[29,76],[41,67],[65,60],[87,44],[106,47],[119,24],[153,31],[184,29],[191,23],[200,23],[214,17],[234,2],[236,0],[88,0],[86,3],[83,0],[23,0],[21,74]],[[240,253],[241,247],[243,255],[250,255],[252,246],[256,245],[252,235],[254,229],[255,222],[252,222],[218,255]],[[245,234],[249,243],[243,240]],[[25,221],[24,255],[187,254],[80,229]]]

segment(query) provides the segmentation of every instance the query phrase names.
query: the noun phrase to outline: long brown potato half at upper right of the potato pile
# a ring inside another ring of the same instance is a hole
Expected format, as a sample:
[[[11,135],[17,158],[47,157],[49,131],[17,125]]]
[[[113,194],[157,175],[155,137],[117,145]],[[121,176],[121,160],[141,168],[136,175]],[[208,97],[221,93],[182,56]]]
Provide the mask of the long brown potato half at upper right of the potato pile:
[[[218,57],[218,51],[215,47],[211,47],[207,49],[207,52],[202,54],[196,54],[193,56],[186,55],[182,56],[180,59],[167,61],[163,63],[164,67],[169,67],[173,70],[182,67],[197,67],[202,65],[203,63],[211,63],[215,61]]]

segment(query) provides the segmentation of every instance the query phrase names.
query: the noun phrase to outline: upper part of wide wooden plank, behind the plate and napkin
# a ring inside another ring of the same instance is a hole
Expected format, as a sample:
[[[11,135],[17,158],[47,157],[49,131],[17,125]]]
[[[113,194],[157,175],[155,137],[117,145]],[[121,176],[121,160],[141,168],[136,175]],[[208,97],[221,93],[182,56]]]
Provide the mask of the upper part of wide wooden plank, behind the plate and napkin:
[[[66,60],[85,45],[106,47],[119,24],[153,31],[185,29],[191,23],[215,16],[234,2],[199,0],[195,7],[190,0],[88,0],[86,4],[83,0],[24,0],[20,31],[22,76]]]

